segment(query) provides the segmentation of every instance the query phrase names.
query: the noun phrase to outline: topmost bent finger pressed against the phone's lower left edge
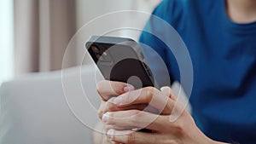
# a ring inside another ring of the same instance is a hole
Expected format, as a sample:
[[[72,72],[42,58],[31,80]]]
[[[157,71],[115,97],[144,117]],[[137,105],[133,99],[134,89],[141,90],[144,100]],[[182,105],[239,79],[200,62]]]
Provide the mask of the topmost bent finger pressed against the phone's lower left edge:
[[[133,89],[131,84],[117,81],[102,80],[96,84],[96,90],[104,101],[108,101],[112,95],[122,95]]]

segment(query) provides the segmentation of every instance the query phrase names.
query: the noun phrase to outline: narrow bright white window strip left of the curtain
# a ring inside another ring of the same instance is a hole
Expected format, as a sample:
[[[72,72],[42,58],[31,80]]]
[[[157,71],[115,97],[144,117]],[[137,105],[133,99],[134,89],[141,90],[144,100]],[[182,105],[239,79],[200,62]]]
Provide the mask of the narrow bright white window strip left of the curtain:
[[[0,85],[14,77],[14,4],[0,2]]]

